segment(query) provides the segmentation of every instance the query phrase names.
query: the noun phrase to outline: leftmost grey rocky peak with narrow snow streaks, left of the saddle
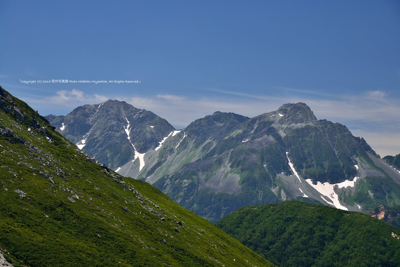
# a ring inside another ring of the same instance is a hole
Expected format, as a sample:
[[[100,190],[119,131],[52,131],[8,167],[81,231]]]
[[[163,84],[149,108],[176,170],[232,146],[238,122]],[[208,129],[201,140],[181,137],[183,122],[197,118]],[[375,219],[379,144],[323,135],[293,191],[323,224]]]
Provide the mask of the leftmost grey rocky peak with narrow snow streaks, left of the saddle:
[[[46,118],[64,137],[111,169],[141,159],[175,130],[153,112],[118,100],[79,106],[66,116]]]

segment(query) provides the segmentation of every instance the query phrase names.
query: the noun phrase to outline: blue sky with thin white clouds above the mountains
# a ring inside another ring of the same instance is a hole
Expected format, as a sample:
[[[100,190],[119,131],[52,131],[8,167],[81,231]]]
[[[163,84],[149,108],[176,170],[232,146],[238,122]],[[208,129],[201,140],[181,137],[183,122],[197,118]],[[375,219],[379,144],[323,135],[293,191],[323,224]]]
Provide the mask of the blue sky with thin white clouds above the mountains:
[[[305,102],[400,153],[399,1],[1,1],[0,32],[0,85],[42,115],[117,99],[183,128]]]

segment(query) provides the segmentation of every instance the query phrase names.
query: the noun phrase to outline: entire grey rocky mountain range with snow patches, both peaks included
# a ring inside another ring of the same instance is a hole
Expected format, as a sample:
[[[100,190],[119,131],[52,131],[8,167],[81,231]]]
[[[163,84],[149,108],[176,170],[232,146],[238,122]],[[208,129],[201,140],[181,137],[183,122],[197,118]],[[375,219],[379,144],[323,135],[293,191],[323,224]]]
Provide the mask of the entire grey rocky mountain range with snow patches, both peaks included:
[[[46,118],[88,155],[212,223],[242,206],[285,200],[363,213],[400,204],[399,171],[346,126],[318,120],[305,103],[254,118],[217,111],[182,130],[151,112],[153,120],[143,113],[136,122],[140,113],[108,100]]]

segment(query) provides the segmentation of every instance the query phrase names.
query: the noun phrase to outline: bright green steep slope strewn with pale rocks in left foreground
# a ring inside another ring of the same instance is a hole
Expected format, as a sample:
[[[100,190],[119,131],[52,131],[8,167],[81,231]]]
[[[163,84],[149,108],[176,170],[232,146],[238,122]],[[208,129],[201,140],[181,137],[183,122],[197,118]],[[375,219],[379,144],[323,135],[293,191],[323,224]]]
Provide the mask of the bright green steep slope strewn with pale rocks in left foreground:
[[[14,266],[271,266],[79,151],[0,86],[0,250]]]

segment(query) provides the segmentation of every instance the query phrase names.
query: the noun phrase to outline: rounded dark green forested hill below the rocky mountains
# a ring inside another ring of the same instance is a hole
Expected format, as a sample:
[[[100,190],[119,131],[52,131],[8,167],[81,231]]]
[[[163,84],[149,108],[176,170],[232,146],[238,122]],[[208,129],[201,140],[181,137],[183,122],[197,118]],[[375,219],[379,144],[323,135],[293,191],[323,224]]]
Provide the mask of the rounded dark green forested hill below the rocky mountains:
[[[216,223],[279,266],[399,266],[400,229],[297,201],[247,206]]]

